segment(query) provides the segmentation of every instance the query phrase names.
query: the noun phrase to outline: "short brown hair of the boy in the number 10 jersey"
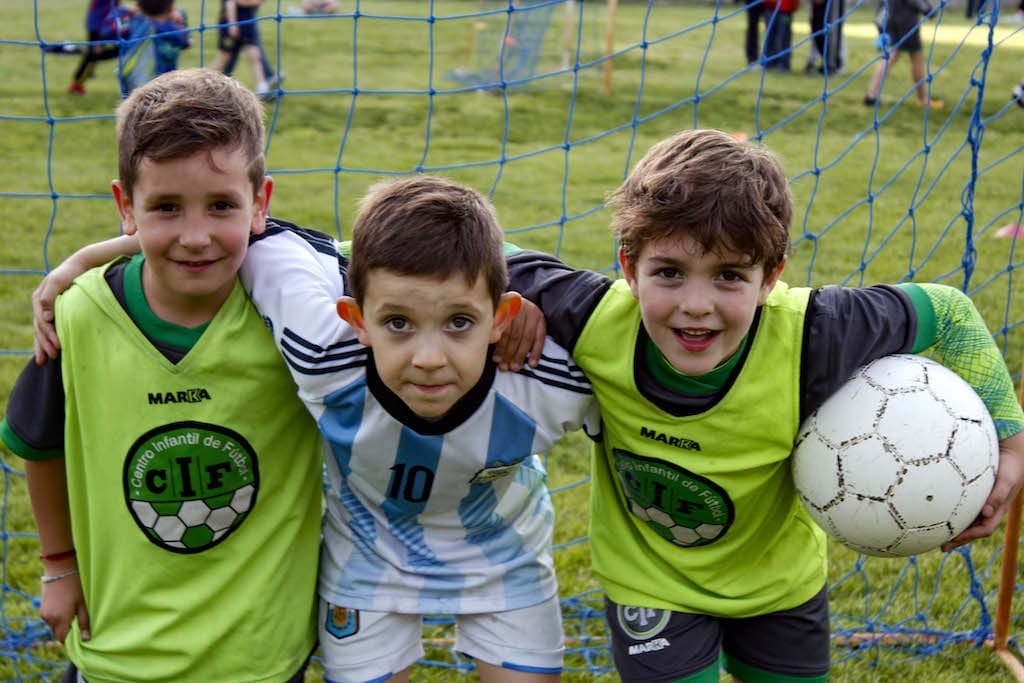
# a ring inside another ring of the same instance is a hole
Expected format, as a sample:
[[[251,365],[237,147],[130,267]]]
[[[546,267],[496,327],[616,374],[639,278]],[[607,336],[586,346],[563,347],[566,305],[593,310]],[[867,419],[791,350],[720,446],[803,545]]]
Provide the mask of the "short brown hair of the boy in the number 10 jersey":
[[[348,283],[360,305],[371,270],[439,279],[482,273],[495,306],[508,288],[505,233],[480,193],[453,180],[414,175],[373,185],[352,225]]]

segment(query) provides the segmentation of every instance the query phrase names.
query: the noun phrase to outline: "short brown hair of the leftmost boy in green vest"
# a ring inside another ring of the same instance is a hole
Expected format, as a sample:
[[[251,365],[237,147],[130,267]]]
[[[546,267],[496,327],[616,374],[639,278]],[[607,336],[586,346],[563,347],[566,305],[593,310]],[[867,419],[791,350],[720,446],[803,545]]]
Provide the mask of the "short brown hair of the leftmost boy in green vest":
[[[234,79],[206,69],[162,74],[118,108],[118,179],[130,198],[143,159],[226,147],[245,153],[255,195],[266,170],[263,134],[259,99]]]

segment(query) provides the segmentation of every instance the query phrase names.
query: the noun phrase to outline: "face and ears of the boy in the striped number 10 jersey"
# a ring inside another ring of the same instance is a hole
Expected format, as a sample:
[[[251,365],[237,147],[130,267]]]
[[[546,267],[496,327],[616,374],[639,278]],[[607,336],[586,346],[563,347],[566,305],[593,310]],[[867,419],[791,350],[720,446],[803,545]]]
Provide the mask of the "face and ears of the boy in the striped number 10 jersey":
[[[487,346],[519,303],[518,295],[505,294],[495,311],[483,276],[470,287],[462,273],[439,280],[376,269],[366,290],[361,307],[345,297],[338,310],[373,348],[384,384],[427,420],[443,417],[476,385]]]

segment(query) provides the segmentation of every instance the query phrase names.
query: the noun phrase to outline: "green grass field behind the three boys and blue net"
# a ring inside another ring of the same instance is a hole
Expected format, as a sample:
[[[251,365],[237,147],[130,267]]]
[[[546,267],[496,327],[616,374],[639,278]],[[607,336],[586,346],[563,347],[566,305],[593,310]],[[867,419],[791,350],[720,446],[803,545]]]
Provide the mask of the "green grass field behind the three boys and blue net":
[[[77,247],[118,231],[109,194],[119,101],[112,62],[99,66],[85,97],[74,97],[67,87],[77,57],[43,54],[37,44],[82,40],[84,4],[36,0],[0,8],[0,215],[6,228],[0,242],[0,410],[31,347],[30,295],[40,274]],[[1020,222],[1024,195],[1024,111],[1010,102],[1012,87],[1024,77],[1020,25],[1004,19],[989,33],[967,22],[962,6],[948,8],[922,30],[932,86],[946,108],[926,114],[913,105],[903,56],[876,113],[861,103],[879,54],[873,5],[853,10],[846,72],[825,81],[800,73],[809,51],[806,6],[794,23],[794,73],[778,74],[746,68],[742,5],[622,2],[606,94],[604,3],[586,3],[579,70],[560,69],[562,45],[574,45],[575,36],[563,34],[559,6],[538,68],[544,78],[507,93],[464,90],[445,76],[493,51],[501,17],[470,16],[495,7],[492,0],[348,0],[343,14],[316,19],[287,15],[290,4],[267,0],[262,9],[263,15],[282,11],[282,20],[262,24],[261,32],[271,60],[280,58],[287,74],[287,94],[266,106],[274,215],[344,238],[357,198],[373,181],[439,172],[489,193],[510,241],[557,252],[575,266],[606,269],[614,246],[602,200],[643,152],[683,128],[741,132],[776,152],[793,181],[796,246],[784,275],[791,284],[916,280],[959,287],[965,245],[973,245],[968,291],[1019,374],[1024,288],[1015,269],[1024,262],[1020,242],[995,232]],[[215,24],[217,5],[178,2],[193,27]],[[430,7],[436,20],[427,23]],[[197,33],[180,66],[206,63],[215,52],[216,31]],[[236,73],[252,85],[247,65]],[[20,469],[10,454],[2,456]],[[567,438],[550,466],[553,487],[578,484],[588,466],[583,438]],[[7,631],[16,632],[35,613],[16,591],[36,595],[40,567],[24,482],[10,473],[5,482],[3,566],[5,586],[15,592],[4,593],[2,610]],[[555,501],[556,542],[584,536],[586,484],[559,492]],[[879,630],[902,624],[983,637],[994,609],[1000,541],[975,545],[970,566],[967,556],[938,553],[909,564],[861,564],[836,546],[834,628],[857,631],[877,622]],[[564,596],[596,588],[586,544],[561,549],[556,558]],[[985,596],[987,614],[979,601],[966,601],[972,592]],[[570,646],[586,635],[574,625],[567,624]],[[599,636],[593,625],[587,628]],[[1011,633],[1019,628],[1015,624]],[[450,635],[430,637],[443,644]],[[833,679],[1006,680],[1007,670],[976,640],[923,657],[906,648],[855,649],[837,640]],[[31,674],[38,666],[18,657],[60,658],[53,646],[2,647],[0,680],[39,680]],[[443,647],[431,656],[443,658]],[[584,666],[575,655],[568,664]],[[465,678],[438,668],[414,674],[417,681]],[[615,677],[584,671],[565,679]]]

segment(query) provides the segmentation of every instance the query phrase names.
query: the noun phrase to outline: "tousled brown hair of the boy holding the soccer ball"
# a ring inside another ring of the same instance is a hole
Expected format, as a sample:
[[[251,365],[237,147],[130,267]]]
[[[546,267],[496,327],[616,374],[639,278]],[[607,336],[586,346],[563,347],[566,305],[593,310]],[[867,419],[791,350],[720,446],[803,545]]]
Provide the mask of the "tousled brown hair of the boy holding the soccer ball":
[[[652,146],[608,197],[629,263],[657,240],[686,236],[773,270],[790,249],[793,197],[767,150],[717,130],[687,130]]]

